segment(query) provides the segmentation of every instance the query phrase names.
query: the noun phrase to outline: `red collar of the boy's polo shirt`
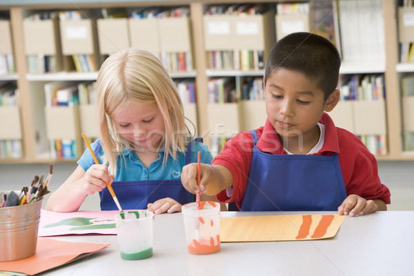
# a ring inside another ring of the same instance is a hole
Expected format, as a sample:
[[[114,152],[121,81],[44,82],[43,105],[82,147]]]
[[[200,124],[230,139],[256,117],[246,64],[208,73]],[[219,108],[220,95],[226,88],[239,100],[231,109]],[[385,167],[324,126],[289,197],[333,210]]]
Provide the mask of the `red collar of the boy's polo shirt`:
[[[324,146],[322,146],[321,152],[340,152],[339,150],[339,141],[337,130],[335,128],[335,124],[333,124],[333,120],[329,115],[324,112],[322,118],[319,120],[319,123],[325,126],[325,141]],[[272,124],[270,123],[269,119],[266,119],[266,123],[264,124],[264,129],[262,132],[262,136],[260,136],[259,141],[256,144],[257,148],[259,148],[262,152],[268,152],[273,155],[282,155],[286,154],[284,152],[282,143],[280,142],[279,135],[277,135],[277,131],[273,128]]]

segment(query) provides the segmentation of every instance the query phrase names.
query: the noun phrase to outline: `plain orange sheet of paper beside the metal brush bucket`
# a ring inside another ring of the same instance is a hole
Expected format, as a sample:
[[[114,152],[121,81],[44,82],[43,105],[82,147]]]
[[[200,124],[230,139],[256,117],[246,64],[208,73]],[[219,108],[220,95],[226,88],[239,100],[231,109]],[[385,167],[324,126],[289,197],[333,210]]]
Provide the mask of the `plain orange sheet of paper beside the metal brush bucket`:
[[[68,264],[80,257],[86,257],[109,245],[89,242],[63,242],[57,239],[39,237],[35,255],[17,261],[0,262],[0,270],[34,275]]]

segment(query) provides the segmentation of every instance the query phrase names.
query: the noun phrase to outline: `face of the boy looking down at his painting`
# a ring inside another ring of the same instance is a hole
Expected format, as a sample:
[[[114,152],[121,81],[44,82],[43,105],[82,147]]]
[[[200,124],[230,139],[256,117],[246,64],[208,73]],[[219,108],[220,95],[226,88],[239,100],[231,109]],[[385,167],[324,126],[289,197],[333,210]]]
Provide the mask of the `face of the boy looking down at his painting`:
[[[330,99],[324,100],[316,81],[297,71],[278,69],[268,77],[264,98],[268,119],[281,138],[302,135],[304,143],[319,139],[316,124],[324,110],[330,111],[326,106]]]

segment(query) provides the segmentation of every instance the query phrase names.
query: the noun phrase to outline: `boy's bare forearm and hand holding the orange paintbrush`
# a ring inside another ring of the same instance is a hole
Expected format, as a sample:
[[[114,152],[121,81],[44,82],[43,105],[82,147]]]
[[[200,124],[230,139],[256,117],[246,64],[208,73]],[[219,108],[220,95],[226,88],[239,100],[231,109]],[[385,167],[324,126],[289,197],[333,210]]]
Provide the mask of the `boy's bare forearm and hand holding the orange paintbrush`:
[[[197,164],[184,166],[181,172],[184,188],[190,193],[200,191],[205,195],[217,195],[221,190],[233,186],[233,175],[225,166],[201,164],[200,176],[200,186],[197,186]]]

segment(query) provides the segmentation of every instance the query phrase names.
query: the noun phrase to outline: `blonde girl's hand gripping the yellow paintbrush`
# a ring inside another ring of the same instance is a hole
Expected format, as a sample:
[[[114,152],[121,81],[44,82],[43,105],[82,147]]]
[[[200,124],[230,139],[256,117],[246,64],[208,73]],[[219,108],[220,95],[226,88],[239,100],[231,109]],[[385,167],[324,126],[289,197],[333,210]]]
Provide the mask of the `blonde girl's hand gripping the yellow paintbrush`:
[[[106,188],[107,183],[111,184],[113,181],[114,176],[109,174],[108,167],[94,164],[83,175],[82,190],[85,191],[86,195],[92,195],[100,192],[103,188]]]

